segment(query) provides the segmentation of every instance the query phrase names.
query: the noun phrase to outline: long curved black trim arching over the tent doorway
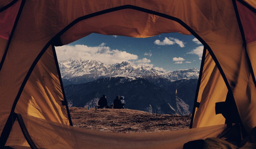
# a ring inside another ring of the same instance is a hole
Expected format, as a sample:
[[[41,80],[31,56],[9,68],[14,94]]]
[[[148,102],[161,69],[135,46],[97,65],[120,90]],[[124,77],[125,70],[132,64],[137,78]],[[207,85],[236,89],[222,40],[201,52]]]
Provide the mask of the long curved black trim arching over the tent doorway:
[[[25,0],[23,0],[25,1]],[[39,59],[42,57],[42,55],[44,54],[44,52],[48,49],[48,47],[53,44],[54,44],[54,41],[58,40],[58,38],[63,34],[65,33],[69,28],[71,28],[73,25],[75,25],[76,23],[80,22],[81,20],[85,20],[85,19],[88,19],[88,18],[91,18],[91,17],[95,17],[95,16],[98,16],[98,15],[102,15],[102,14],[106,14],[106,13],[110,13],[110,12],[114,12],[114,11],[117,11],[117,10],[122,10],[122,9],[134,9],[134,10],[138,10],[138,11],[141,11],[141,12],[145,12],[145,13],[148,13],[148,14],[153,14],[153,15],[157,15],[157,16],[160,16],[160,17],[164,17],[164,18],[167,18],[167,19],[170,19],[170,20],[174,20],[176,22],[178,22],[180,25],[182,25],[183,27],[185,27],[191,34],[193,34],[204,46],[206,46],[207,50],[209,51],[209,54],[211,55],[212,59],[215,61],[216,63],[216,66],[218,67],[219,71],[220,71],[220,74],[223,78],[223,80],[225,81],[226,83],[226,86],[228,88],[228,90],[231,91],[231,87],[228,83],[228,80],[216,58],[216,56],[214,55],[213,51],[211,50],[210,46],[193,30],[191,29],[187,24],[185,24],[182,20],[176,18],[176,17],[173,17],[173,16],[169,16],[169,15],[166,15],[166,14],[163,14],[163,13],[159,13],[159,12],[155,12],[153,10],[149,10],[149,9],[145,9],[145,8],[142,8],[142,7],[137,7],[137,6],[133,6],[133,5],[123,5],[123,6],[118,6],[118,7],[114,7],[114,8],[110,8],[110,9],[105,9],[105,10],[102,10],[102,11],[99,11],[99,12],[95,12],[95,13],[92,13],[92,14],[88,14],[88,15],[85,15],[85,16],[82,16],[82,17],[79,17],[77,19],[75,19],[74,21],[72,21],[69,25],[67,25],[65,28],[63,28],[58,34],[56,34],[50,41],[47,42],[47,44],[44,46],[44,48],[39,52],[39,54],[37,55],[36,59],[34,60],[34,62],[32,63],[31,67],[29,68],[28,70],[28,73],[26,75],[26,77],[24,78],[23,82],[22,82],[22,85],[18,91],[18,94],[14,100],[14,103],[13,103],[13,107],[12,107],[12,110],[10,113],[13,113],[14,110],[15,110],[15,107],[17,105],[17,102],[20,98],[20,95],[26,85],[26,82],[28,81],[29,79],[29,76],[31,75],[33,69],[35,68],[37,62],[39,61]],[[10,114],[9,115],[9,118],[5,124],[5,127],[3,129],[3,133],[2,132],[2,135],[1,135],[1,140],[3,140],[3,144],[6,143],[7,141],[7,138],[9,136],[9,133],[10,133],[10,122],[11,122],[11,117],[12,115]],[[2,145],[2,144],[1,144]],[[1,146],[0,145],[0,146]]]

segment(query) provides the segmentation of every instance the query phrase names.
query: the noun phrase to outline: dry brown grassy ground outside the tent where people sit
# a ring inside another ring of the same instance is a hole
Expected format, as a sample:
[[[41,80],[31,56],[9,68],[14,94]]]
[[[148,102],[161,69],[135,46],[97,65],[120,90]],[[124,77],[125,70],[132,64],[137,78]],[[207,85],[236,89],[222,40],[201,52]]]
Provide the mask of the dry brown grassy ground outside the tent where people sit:
[[[129,109],[69,108],[73,126],[117,133],[188,129],[191,115],[151,114]]]

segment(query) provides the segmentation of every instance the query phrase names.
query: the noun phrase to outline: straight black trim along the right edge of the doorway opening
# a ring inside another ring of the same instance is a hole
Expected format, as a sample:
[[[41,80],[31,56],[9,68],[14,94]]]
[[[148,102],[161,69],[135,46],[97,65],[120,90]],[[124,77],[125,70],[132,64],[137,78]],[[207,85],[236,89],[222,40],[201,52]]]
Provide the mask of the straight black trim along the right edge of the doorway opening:
[[[203,70],[204,70],[206,50],[207,49],[204,46],[203,55],[202,55],[202,61],[201,61],[201,66],[200,66],[200,72],[199,72],[199,77],[198,77],[198,82],[197,82],[197,88],[196,88],[194,107],[193,107],[193,111],[192,111],[192,116],[191,116],[191,121],[190,121],[189,128],[192,128],[193,121],[194,121],[194,116],[195,116],[195,111],[196,111],[196,103],[197,103],[197,98],[198,98],[198,92],[199,92],[199,88],[200,88],[200,84],[201,84],[201,78],[202,78],[202,74],[203,74]]]

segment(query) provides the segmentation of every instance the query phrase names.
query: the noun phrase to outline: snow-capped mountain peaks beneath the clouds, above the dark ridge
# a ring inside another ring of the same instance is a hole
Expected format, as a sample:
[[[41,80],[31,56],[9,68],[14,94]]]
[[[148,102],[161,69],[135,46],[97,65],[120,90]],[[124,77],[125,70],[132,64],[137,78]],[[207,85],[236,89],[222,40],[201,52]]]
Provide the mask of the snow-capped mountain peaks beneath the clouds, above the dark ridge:
[[[198,79],[199,76],[199,70],[196,68],[165,73],[149,66],[134,65],[126,61],[108,65],[95,60],[67,59],[60,61],[59,67],[64,85],[86,83],[107,77],[149,78],[154,76],[178,80],[184,78]]]

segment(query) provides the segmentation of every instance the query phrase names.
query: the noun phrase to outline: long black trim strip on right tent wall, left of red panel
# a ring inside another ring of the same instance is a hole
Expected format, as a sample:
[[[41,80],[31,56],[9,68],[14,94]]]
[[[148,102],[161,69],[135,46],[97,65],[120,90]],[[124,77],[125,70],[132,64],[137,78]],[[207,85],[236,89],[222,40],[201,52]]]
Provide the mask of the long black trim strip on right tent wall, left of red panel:
[[[234,10],[235,10],[235,13],[236,13],[236,17],[237,17],[237,23],[239,25],[241,36],[242,36],[242,39],[243,39],[243,46],[244,46],[244,49],[245,49],[247,62],[249,64],[249,68],[250,68],[250,71],[251,71],[252,80],[253,80],[254,86],[256,88],[256,79],[255,79],[255,75],[254,75],[254,72],[253,72],[253,69],[252,69],[252,63],[251,63],[251,60],[250,60],[248,52],[247,52],[245,35],[244,35],[241,19],[240,19],[240,16],[239,16],[239,12],[238,12],[238,8],[237,8],[237,3],[236,3],[236,0],[232,0],[232,2],[233,2]]]

